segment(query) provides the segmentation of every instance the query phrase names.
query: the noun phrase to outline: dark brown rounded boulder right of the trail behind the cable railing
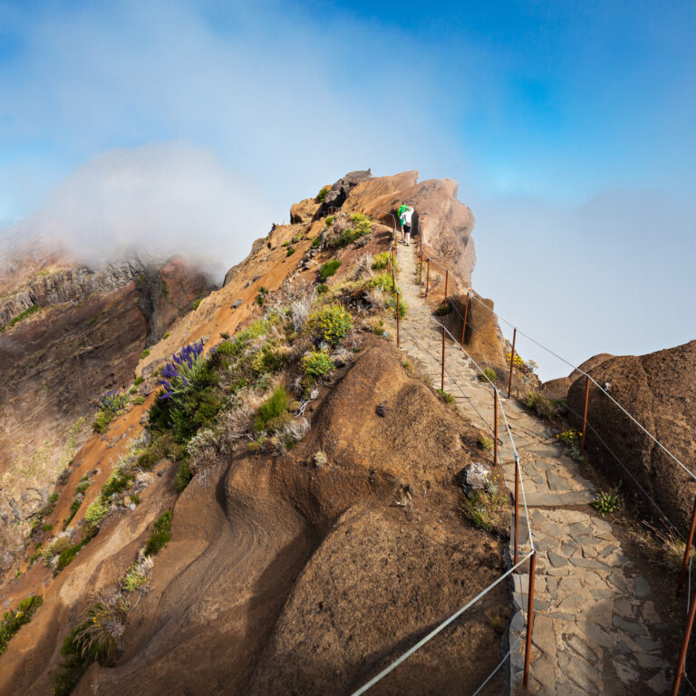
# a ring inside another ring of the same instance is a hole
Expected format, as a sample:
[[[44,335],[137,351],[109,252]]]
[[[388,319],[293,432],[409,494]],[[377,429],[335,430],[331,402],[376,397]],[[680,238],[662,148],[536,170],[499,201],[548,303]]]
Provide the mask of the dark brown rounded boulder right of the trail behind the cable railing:
[[[601,362],[589,374],[687,467],[696,461],[696,341],[657,353],[624,355]],[[568,391],[569,407],[585,405],[585,378]],[[587,420],[621,459],[672,522],[687,529],[696,484],[679,465],[643,433],[596,387],[589,392]],[[576,417],[576,422],[579,419]],[[588,430],[587,444],[627,490],[637,490],[604,446]],[[646,501],[638,493],[640,502]],[[650,504],[646,504],[646,510]],[[651,514],[653,509],[649,510]]]

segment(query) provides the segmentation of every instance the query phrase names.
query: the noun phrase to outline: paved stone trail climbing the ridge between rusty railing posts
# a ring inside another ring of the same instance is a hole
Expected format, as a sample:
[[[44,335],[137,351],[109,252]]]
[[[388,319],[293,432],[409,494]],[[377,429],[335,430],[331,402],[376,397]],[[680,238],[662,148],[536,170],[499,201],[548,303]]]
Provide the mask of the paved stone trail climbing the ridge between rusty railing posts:
[[[430,319],[418,285],[415,247],[400,245],[399,284],[410,311],[401,321],[401,349],[440,388],[442,333]],[[431,274],[432,277],[432,274]],[[423,270],[423,279],[425,269]],[[432,291],[442,295],[442,285]],[[449,339],[445,391],[478,427],[493,423],[489,386],[477,379]],[[462,393],[463,392],[463,393]],[[651,601],[651,588],[623,556],[612,526],[598,514],[573,506],[594,500],[592,483],[583,478],[546,425],[514,400],[501,398],[520,455],[527,506],[536,544],[535,626],[530,691],[538,694],[634,694],[668,690],[669,666],[662,659],[668,626]],[[498,437],[507,487],[514,493],[514,455],[499,415]],[[520,505],[520,556],[529,550]],[[510,623],[511,691],[522,678],[528,572],[511,583],[515,614]]]

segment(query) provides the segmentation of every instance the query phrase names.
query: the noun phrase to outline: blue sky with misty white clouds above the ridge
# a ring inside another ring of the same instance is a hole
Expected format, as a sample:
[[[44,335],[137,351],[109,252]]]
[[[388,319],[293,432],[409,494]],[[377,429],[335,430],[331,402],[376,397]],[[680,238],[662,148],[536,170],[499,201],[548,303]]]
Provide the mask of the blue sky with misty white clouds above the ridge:
[[[681,343],[696,338],[694,32],[692,2],[0,0],[0,226],[47,197],[89,208],[64,180],[126,167],[140,188],[118,188],[111,223],[147,199],[151,237],[171,241],[206,207],[199,247],[224,227],[232,266],[345,171],[420,169],[459,181],[474,285],[501,314],[574,361]],[[189,183],[169,185],[172,162]],[[189,208],[165,209],[182,188]]]

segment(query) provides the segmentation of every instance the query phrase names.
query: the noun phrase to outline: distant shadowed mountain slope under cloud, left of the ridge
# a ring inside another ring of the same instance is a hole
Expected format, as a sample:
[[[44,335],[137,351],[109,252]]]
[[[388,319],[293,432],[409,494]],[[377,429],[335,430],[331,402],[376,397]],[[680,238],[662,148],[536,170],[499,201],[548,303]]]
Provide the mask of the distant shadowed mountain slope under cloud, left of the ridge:
[[[0,274],[0,572],[90,432],[95,401],[131,384],[143,349],[210,290],[179,259],[69,264],[20,256]]]

